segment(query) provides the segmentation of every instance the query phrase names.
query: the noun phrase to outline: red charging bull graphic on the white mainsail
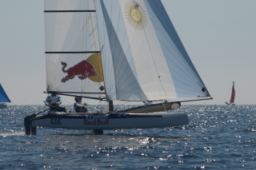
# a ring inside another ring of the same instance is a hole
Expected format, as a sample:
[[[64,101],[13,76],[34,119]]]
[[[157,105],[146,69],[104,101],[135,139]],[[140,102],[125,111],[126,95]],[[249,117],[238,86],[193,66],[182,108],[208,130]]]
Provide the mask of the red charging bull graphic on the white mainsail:
[[[98,77],[98,73],[96,73],[94,65],[92,65],[89,61],[81,61],[77,65],[74,65],[67,70],[65,70],[66,62],[62,62],[62,65],[62,71],[64,73],[67,73],[67,76],[62,78],[62,82],[73,79],[75,76],[78,76],[78,78],[80,78],[81,80],[90,77]]]

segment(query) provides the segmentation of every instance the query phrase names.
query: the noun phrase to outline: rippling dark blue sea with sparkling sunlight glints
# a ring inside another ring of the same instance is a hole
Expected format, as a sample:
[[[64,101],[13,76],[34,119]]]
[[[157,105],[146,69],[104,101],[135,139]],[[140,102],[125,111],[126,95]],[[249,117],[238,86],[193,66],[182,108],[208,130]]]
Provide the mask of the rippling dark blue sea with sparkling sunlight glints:
[[[24,117],[44,109],[0,110],[0,169],[256,169],[256,105],[183,105],[176,112],[187,113],[190,125],[178,127],[103,135],[39,127],[25,136]],[[97,109],[106,106],[90,107]]]

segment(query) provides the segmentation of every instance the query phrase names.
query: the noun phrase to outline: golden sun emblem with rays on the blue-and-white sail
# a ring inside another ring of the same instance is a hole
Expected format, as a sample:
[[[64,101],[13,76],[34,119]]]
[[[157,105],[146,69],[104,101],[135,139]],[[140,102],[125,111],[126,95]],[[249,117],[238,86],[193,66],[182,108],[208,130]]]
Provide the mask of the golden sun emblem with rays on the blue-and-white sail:
[[[146,12],[138,2],[135,2],[134,0],[127,2],[125,14],[127,21],[136,30],[143,30],[146,27]]]

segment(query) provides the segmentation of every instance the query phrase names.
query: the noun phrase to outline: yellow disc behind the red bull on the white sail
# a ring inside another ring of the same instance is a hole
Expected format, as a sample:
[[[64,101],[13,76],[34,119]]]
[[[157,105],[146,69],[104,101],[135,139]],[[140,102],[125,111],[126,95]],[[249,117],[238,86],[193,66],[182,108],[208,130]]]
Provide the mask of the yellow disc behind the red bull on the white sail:
[[[86,61],[89,61],[90,64],[94,65],[95,72],[98,73],[98,77],[90,77],[89,79],[94,82],[102,82],[103,71],[102,71],[102,57],[100,53],[94,53],[90,57],[87,58]]]

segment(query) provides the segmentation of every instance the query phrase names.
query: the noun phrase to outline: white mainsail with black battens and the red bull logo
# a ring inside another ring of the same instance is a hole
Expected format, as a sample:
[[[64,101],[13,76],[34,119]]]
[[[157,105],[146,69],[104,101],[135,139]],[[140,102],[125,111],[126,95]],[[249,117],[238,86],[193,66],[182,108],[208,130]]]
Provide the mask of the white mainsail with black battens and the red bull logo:
[[[94,0],[45,0],[45,24],[47,90],[105,93]]]

